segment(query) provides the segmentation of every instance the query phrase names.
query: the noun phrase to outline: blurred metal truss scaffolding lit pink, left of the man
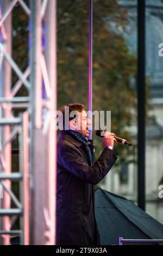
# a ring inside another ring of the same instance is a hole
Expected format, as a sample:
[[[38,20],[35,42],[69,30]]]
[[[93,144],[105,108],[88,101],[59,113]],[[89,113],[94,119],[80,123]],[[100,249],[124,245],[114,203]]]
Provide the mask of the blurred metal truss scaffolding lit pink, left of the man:
[[[22,245],[55,244],[57,109],[56,0],[0,1],[0,242],[20,236]],[[20,4],[29,19],[29,66],[12,58],[12,10]],[[43,34],[43,28],[46,33]],[[42,45],[44,37],[45,45]],[[12,70],[18,81],[11,88]],[[26,97],[16,97],[22,86]],[[44,93],[43,93],[44,92]],[[24,109],[16,117],[14,109]],[[18,138],[18,166],[11,166],[12,141]],[[19,198],[12,183],[19,183]],[[13,206],[14,205],[14,206]],[[20,228],[13,224],[20,218]]]

